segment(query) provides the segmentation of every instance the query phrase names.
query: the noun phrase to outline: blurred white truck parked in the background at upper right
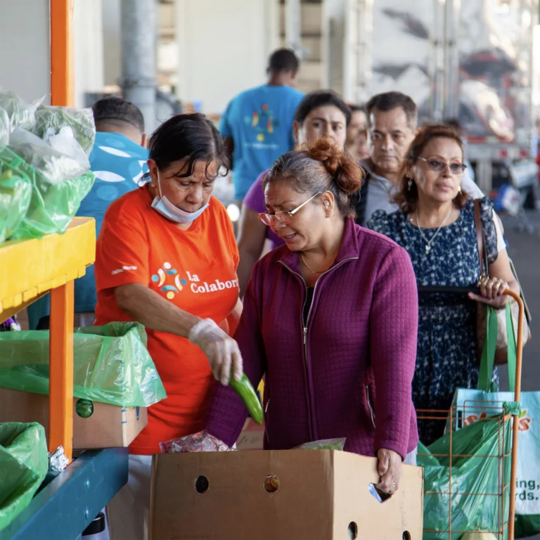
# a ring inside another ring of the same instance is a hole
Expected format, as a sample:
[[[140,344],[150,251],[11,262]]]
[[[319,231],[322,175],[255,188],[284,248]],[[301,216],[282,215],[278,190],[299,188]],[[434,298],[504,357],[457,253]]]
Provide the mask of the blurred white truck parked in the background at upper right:
[[[399,90],[420,122],[458,118],[477,184],[534,205],[535,0],[334,0],[328,83],[349,101]],[[340,4],[340,8],[337,8]]]

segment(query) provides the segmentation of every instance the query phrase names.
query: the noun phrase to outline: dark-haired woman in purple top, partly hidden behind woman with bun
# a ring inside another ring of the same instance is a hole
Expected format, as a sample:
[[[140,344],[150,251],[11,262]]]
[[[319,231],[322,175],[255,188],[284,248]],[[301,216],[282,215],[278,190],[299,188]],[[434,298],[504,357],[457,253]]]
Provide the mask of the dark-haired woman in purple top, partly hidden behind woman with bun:
[[[351,115],[349,105],[331,90],[306,94],[295,113],[295,143],[314,143],[320,137],[326,136],[339,148],[344,148]],[[268,171],[264,171],[260,174],[243,200],[238,231],[240,295],[243,295],[248,285],[253,265],[262,255],[265,240],[269,240],[271,249],[283,245],[283,239],[259,219],[259,214],[265,210],[262,181],[267,173]]]

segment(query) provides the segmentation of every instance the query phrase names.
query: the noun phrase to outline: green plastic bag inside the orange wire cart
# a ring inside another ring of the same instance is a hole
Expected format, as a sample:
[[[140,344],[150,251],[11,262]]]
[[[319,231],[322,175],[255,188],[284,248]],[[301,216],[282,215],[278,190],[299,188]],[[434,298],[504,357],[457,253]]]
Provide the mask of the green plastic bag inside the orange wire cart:
[[[507,414],[518,413],[518,403],[506,403]],[[498,417],[502,418],[502,413]],[[502,423],[504,430],[502,430]],[[428,449],[418,445],[417,464],[424,468],[424,534],[423,540],[448,540],[451,474],[451,527],[453,540],[463,531],[497,532],[508,522],[510,501],[510,454],[512,419],[483,420],[451,434],[444,435]],[[470,457],[463,457],[470,456]],[[489,457],[493,456],[493,457]],[[499,475],[504,461],[504,515],[501,515]]]

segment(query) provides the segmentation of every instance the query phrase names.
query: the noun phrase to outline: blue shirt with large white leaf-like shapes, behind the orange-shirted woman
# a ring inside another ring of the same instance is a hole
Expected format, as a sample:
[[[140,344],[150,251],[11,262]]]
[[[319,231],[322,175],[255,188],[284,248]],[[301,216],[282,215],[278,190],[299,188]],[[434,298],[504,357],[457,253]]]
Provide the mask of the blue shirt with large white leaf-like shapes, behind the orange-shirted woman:
[[[120,133],[98,131],[89,160],[96,181],[82,200],[77,216],[96,220],[97,237],[110,203],[138,187],[143,175],[148,172],[148,150]],[[89,266],[86,275],[75,280],[75,312],[94,311],[95,308],[96,280],[94,266]],[[41,317],[50,313],[49,295],[31,304],[27,311],[32,330]]]

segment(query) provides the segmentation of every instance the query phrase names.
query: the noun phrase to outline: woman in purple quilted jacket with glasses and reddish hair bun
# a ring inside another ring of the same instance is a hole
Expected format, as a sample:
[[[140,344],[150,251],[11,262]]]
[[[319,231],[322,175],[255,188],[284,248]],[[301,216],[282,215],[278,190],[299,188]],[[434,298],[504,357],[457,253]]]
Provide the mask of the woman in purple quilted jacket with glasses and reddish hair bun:
[[[354,224],[361,175],[328,139],[274,164],[260,217],[285,245],[255,264],[235,339],[252,384],[266,376],[266,449],[346,437],[345,450],[378,456],[392,494],[416,461],[418,299],[406,251]],[[219,388],[208,431],[231,445],[246,416]]]

